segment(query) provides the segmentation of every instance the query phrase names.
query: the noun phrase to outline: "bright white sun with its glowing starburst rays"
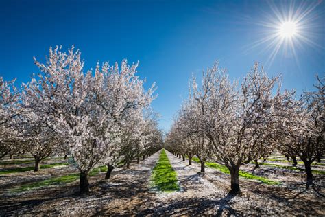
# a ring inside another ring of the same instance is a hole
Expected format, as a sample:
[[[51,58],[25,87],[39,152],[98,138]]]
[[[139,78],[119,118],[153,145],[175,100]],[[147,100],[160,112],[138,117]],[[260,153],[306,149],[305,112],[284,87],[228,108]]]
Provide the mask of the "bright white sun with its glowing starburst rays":
[[[320,21],[319,10],[316,10],[320,3],[322,1],[269,1],[269,13],[263,12],[261,19],[252,21],[258,26],[258,34],[255,34],[258,38],[245,45],[247,52],[258,51],[258,55],[265,55],[265,65],[270,66],[281,54],[283,60],[291,58],[298,65],[298,52],[305,46],[324,50],[315,42],[324,23]]]

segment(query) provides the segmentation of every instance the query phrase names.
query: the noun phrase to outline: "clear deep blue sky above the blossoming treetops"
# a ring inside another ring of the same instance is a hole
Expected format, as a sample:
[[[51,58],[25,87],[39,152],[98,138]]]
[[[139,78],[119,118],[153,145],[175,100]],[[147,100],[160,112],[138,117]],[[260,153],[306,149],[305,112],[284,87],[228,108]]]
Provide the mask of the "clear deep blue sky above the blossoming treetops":
[[[270,61],[269,42],[251,47],[269,33],[265,23],[308,10],[304,36],[312,41],[280,51]],[[273,8],[273,10],[272,10]],[[86,61],[140,61],[139,76],[158,85],[154,110],[168,130],[187,97],[191,73],[220,60],[230,78],[239,78],[254,62],[270,75],[282,73],[283,87],[311,89],[315,73],[324,75],[325,6],[322,1],[0,1],[0,75],[28,82],[37,73],[33,56],[44,60],[50,46],[75,45]],[[264,24],[263,24],[264,23]],[[263,25],[262,25],[263,24]]]

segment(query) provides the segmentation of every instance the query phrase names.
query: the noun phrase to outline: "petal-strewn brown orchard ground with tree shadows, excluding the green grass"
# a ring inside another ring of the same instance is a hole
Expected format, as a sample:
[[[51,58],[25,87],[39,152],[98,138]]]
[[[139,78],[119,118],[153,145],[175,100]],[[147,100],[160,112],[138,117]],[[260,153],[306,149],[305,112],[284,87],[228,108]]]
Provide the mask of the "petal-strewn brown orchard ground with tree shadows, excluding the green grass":
[[[315,186],[306,189],[304,172],[264,165],[254,170],[254,165],[246,165],[243,170],[281,181],[282,185],[265,185],[259,181],[240,179],[241,194],[233,196],[228,194],[229,175],[212,168],[206,168],[206,173],[200,174],[199,164],[193,162],[193,165],[187,165],[187,161],[166,152],[178,173],[178,192],[156,192],[151,187],[151,171],[160,154],[157,152],[139,164],[133,163],[130,169],[113,170],[109,182],[104,181],[105,173],[92,176],[91,192],[87,195],[78,194],[78,181],[12,192],[12,189],[25,183],[77,172],[72,165],[40,172],[0,175],[0,216],[325,215],[324,175],[315,175]],[[62,159],[51,161],[64,162]],[[0,165],[0,168],[7,166]]]

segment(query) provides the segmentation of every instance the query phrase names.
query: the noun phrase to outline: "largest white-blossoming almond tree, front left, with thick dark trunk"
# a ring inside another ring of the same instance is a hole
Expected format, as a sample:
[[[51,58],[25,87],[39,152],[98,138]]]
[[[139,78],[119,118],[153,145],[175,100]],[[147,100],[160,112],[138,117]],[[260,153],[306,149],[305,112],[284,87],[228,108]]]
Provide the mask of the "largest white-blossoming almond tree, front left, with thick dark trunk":
[[[88,192],[89,172],[110,160],[120,144],[121,128],[134,111],[149,106],[154,89],[145,91],[135,75],[137,64],[123,60],[120,69],[106,62],[84,73],[80,55],[73,47],[68,53],[56,47],[49,49],[45,64],[35,60],[41,73],[25,87],[25,107],[42,115],[64,138],[80,170],[80,191]]]

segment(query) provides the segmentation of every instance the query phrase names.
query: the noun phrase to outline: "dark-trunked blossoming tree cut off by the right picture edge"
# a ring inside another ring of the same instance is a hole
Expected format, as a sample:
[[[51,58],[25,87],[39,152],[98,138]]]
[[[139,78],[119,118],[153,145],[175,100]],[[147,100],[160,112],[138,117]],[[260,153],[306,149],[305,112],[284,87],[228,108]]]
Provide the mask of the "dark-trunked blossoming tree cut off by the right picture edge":
[[[304,162],[307,184],[313,183],[311,163],[324,154],[324,81],[318,79],[316,91],[296,100],[287,98],[282,118],[280,149],[299,156]]]

